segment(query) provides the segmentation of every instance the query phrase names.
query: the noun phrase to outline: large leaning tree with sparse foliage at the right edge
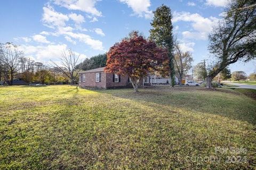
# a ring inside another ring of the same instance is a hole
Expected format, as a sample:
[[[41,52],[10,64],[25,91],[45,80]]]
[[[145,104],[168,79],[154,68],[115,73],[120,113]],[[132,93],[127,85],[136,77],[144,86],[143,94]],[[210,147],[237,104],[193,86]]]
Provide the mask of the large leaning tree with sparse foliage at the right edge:
[[[212,88],[212,79],[229,64],[256,57],[255,0],[231,1],[209,40],[209,50],[217,60],[206,77],[206,88]]]

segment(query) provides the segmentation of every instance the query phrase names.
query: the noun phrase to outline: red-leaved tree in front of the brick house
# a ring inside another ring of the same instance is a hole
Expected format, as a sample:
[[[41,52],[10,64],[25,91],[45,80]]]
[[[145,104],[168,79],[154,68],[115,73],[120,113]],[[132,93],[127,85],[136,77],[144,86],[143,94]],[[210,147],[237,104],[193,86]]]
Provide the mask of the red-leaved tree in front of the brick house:
[[[120,43],[116,43],[107,53],[106,72],[128,75],[134,92],[139,81],[150,72],[166,75],[169,58],[166,49],[157,47],[153,41],[143,38],[137,31],[130,33]]]

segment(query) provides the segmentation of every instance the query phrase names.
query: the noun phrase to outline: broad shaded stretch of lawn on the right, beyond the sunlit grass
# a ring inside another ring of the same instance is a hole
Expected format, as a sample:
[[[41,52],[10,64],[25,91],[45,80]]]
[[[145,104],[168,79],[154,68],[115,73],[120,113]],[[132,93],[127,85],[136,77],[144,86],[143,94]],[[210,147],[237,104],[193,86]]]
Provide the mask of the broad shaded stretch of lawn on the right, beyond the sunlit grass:
[[[206,90],[188,87],[153,87],[139,89],[92,90],[139,103],[155,103],[188,111],[210,113],[256,124],[256,103],[237,91],[229,89]],[[161,108],[159,108],[161,109]]]

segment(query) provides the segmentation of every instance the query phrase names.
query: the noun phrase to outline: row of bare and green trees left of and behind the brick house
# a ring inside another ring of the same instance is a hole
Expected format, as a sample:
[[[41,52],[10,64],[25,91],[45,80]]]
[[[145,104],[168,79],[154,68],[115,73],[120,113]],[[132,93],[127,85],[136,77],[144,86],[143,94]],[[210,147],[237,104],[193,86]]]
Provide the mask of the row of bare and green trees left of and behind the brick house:
[[[26,57],[18,45],[0,44],[0,82],[12,85],[19,79],[26,83],[75,84],[80,70],[105,66],[107,56],[100,54],[77,64],[79,55],[69,49],[63,51],[59,59],[60,63],[51,61],[46,65]]]

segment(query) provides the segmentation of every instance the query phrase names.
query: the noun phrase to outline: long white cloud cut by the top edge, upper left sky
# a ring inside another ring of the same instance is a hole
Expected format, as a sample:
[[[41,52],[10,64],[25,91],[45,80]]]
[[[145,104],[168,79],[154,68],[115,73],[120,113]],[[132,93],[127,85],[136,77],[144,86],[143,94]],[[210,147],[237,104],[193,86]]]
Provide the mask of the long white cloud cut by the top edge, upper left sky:
[[[99,0],[54,0],[54,3],[69,10],[80,10],[95,16],[102,16],[102,13],[95,8]]]

